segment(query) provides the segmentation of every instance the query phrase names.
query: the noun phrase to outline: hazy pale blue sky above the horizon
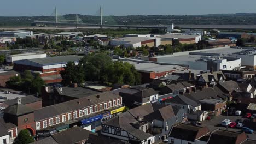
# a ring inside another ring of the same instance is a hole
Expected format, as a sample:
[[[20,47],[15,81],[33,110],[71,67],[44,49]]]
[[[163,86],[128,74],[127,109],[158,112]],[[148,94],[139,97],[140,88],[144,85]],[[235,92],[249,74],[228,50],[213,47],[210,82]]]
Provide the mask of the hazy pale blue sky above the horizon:
[[[0,16],[51,15],[56,6],[61,15],[193,15],[256,13],[255,0],[11,0],[1,1]]]

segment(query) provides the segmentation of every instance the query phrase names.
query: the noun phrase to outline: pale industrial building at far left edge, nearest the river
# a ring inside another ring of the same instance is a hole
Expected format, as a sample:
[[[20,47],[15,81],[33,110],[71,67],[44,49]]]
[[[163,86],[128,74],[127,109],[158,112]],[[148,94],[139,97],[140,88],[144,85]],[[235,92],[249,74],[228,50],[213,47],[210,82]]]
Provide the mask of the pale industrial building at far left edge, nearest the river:
[[[18,38],[26,38],[26,35],[33,35],[32,31],[2,31],[0,32],[0,37],[18,37]]]

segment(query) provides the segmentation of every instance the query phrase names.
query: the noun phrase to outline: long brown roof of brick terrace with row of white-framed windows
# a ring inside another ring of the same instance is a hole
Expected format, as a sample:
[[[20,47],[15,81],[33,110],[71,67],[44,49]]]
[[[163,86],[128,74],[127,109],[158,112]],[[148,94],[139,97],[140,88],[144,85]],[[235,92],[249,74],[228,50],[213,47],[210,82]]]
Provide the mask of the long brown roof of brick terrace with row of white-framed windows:
[[[97,98],[97,95],[100,95],[100,99]],[[34,111],[34,118],[36,121],[39,121],[117,98],[120,98],[120,96],[110,92],[98,93],[88,97],[70,100],[65,103],[43,107],[42,109]]]

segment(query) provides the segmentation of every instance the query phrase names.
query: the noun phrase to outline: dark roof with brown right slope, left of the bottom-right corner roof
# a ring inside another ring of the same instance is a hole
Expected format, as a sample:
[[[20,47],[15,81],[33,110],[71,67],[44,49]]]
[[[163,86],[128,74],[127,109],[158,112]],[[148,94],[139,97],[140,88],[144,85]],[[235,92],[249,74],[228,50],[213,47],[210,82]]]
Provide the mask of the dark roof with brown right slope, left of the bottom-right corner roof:
[[[194,125],[179,124],[172,128],[170,137],[194,142],[200,137],[206,135],[207,133],[209,133],[209,129],[207,127],[197,127]]]

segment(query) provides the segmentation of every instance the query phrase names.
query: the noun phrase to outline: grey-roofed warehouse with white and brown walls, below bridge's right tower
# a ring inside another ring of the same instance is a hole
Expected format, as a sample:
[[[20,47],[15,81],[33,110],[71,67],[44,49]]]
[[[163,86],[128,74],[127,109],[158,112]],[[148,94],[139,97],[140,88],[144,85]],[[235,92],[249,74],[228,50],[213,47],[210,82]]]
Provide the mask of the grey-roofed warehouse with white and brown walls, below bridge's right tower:
[[[141,46],[159,46],[161,44],[160,38],[147,38],[147,37],[124,37],[119,39],[110,40],[110,45],[112,46],[120,46],[124,45],[124,47],[141,47]]]

